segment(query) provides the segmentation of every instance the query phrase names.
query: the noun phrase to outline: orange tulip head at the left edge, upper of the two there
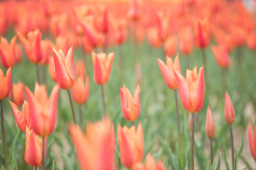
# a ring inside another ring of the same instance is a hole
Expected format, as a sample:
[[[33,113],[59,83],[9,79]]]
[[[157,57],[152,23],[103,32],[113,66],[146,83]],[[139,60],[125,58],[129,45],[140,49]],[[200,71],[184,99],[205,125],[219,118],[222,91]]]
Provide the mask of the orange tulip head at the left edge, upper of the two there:
[[[0,43],[0,54],[1,54],[1,64],[3,67],[13,67],[17,62],[17,54],[16,54],[16,39],[17,37],[14,36],[10,42],[10,45],[8,44],[8,41],[1,37],[1,43]]]

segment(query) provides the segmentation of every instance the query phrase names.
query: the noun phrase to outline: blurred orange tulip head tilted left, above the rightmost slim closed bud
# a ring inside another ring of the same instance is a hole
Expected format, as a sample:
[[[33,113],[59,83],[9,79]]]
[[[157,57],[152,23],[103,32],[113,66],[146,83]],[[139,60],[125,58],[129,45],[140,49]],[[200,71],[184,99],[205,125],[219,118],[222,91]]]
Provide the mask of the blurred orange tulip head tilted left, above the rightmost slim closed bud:
[[[216,62],[221,68],[225,69],[230,66],[231,61],[225,45],[220,44],[218,46],[212,46],[212,52],[214,53]]]

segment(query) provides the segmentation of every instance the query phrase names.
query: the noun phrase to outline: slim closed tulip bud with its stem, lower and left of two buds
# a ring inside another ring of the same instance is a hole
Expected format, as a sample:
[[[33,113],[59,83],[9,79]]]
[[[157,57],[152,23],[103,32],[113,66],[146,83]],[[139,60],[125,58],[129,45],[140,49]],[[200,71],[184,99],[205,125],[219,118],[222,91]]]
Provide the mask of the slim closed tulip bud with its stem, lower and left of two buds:
[[[210,143],[211,143],[211,165],[212,165],[212,162],[213,162],[212,138],[214,138],[214,135],[215,135],[215,128],[214,128],[214,121],[212,118],[212,112],[209,108],[209,105],[208,105],[206,114],[207,115],[206,115],[206,123],[205,123],[205,133],[210,139]]]

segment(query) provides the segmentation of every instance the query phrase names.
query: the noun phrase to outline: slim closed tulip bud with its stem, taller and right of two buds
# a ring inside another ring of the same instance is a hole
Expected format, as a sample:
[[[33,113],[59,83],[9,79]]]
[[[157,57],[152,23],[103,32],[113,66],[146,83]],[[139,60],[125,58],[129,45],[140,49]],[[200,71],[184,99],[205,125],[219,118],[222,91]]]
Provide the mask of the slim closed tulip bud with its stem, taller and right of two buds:
[[[234,167],[234,141],[233,141],[233,131],[232,131],[232,124],[235,120],[235,111],[232,104],[232,101],[228,95],[228,92],[225,93],[225,120],[227,124],[229,124],[229,130],[230,130],[230,139],[231,139],[231,154],[232,154],[232,167]]]

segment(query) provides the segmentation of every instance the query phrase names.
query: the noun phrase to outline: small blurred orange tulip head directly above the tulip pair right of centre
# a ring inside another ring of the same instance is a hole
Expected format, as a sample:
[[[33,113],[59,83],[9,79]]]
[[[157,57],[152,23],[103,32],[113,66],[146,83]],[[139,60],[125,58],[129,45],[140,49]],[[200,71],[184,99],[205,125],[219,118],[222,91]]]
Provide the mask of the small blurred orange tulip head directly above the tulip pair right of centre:
[[[173,56],[177,53],[177,38],[176,36],[170,36],[164,42],[165,55]]]

